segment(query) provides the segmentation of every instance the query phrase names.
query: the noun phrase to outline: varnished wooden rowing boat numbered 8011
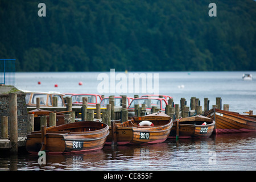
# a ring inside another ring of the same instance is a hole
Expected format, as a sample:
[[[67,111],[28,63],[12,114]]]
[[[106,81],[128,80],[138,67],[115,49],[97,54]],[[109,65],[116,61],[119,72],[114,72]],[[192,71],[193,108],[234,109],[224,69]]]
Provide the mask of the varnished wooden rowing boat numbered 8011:
[[[49,154],[100,150],[109,134],[109,126],[95,121],[80,121],[60,126],[44,127],[27,135],[26,150]]]

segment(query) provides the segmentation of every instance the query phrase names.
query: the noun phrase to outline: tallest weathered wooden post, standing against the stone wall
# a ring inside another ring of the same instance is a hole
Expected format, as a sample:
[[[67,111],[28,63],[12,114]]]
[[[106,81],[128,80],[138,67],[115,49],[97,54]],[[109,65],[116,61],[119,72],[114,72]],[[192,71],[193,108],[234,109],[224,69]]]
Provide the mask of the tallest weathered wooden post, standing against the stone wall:
[[[13,153],[18,152],[18,114],[17,114],[17,94],[9,93],[9,110],[10,110],[10,140]]]

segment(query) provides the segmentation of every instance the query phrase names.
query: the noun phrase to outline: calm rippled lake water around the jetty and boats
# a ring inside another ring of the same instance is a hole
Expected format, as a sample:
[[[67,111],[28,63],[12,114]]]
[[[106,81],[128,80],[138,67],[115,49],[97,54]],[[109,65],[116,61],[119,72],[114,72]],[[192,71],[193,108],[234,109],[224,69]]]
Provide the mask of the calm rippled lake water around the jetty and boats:
[[[109,72],[110,73],[110,72]],[[109,75],[108,72],[106,74]],[[115,72],[115,75],[121,72]],[[216,97],[222,105],[229,104],[230,111],[256,112],[256,81],[243,81],[247,72],[153,72],[159,73],[159,94],[180,98],[204,98],[210,107]],[[256,72],[249,72],[256,76]],[[57,91],[61,93],[97,93],[100,72],[80,73],[16,73],[16,87],[31,91]],[[140,72],[139,72],[140,74]],[[147,73],[146,73],[147,74]],[[41,82],[38,85],[38,81]],[[79,82],[82,85],[79,85]],[[117,84],[118,81],[115,82]],[[58,87],[55,88],[54,85]],[[183,86],[181,86],[183,85]],[[131,93],[134,96],[144,93]],[[110,94],[105,94],[109,96]],[[119,94],[116,94],[119,95]],[[203,106],[204,107],[204,106]],[[204,109],[204,108],[203,108]],[[149,146],[104,146],[96,152],[79,155],[47,155],[46,165],[39,165],[38,156],[0,154],[0,170],[255,170],[255,133],[217,135],[208,139],[170,140]]]

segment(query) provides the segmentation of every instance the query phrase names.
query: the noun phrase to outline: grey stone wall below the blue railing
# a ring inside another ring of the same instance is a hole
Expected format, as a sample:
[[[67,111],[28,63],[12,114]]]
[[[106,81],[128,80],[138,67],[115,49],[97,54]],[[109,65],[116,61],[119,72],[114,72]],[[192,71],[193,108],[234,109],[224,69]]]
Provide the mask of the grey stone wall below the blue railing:
[[[8,116],[9,112],[9,93],[17,94],[17,115],[18,115],[18,137],[27,135],[27,105],[26,105],[26,94],[16,89],[14,86],[0,86],[0,126],[1,117]],[[10,121],[8,122],[8,134],[10,135]],[[1,130],[0,130],[1,136]]]

